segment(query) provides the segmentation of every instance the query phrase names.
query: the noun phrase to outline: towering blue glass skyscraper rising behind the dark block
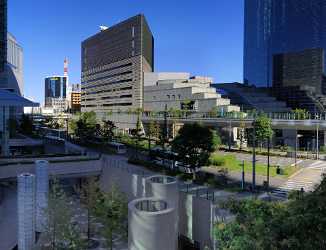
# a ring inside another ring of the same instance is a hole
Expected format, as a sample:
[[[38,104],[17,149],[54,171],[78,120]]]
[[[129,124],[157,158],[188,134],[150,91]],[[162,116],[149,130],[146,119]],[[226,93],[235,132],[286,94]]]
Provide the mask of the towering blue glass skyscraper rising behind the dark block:
[[[245,83],[271,87],[275,54],[312,48],[326,49],[325,0],[245,0]]]

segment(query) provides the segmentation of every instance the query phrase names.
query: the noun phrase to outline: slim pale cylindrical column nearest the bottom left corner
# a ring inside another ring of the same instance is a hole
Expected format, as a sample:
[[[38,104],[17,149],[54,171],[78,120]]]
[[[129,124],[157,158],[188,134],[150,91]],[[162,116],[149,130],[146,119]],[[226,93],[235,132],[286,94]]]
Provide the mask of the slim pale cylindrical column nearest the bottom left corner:
[[[32,250],[35,243],[35,176],[17,177],[18,249]]]

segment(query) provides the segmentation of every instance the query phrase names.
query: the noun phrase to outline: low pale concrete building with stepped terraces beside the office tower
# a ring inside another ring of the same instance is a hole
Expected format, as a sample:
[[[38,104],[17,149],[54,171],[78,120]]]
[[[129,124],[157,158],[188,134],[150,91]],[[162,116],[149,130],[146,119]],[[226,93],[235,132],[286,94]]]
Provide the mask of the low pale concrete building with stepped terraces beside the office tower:
[[[210,112],[240,111],[230,100],[222,98],[210,85],[209,77],[190,77],[189,73],[145,73],[144,110],[168,109]]]

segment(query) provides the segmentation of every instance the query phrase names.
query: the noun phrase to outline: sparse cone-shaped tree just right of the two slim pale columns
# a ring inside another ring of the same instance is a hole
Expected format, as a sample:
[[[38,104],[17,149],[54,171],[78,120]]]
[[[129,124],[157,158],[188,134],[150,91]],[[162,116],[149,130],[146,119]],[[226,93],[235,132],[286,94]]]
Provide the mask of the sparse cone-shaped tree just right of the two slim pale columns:
[[[45,210],[47,222],[44,234],[51,248],[79,250],[85,249],[79,226],[72,221],[73,211],[64,191],[57,181],[51,185],[48,208]]]

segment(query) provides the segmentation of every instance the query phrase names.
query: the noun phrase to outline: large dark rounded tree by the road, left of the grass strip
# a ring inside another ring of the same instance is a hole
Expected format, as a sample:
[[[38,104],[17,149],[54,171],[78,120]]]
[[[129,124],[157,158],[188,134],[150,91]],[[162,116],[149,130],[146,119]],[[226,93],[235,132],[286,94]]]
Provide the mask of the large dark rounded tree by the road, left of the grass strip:
[[[208,163],[220,144],[216,132],[198,123],[185,124],[172,142],[172,150],[193,170]]]

